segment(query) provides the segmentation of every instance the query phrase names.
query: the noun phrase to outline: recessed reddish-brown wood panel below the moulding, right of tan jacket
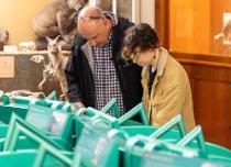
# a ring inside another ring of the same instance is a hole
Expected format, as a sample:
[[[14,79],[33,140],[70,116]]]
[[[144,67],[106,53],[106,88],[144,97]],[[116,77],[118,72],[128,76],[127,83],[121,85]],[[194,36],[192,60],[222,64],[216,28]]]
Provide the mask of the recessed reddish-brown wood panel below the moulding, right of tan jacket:
[[[228,134],[231,87],[223,82],[195,79],[194,90],[196,120],[202,126],[206,140],[230,147]]]

